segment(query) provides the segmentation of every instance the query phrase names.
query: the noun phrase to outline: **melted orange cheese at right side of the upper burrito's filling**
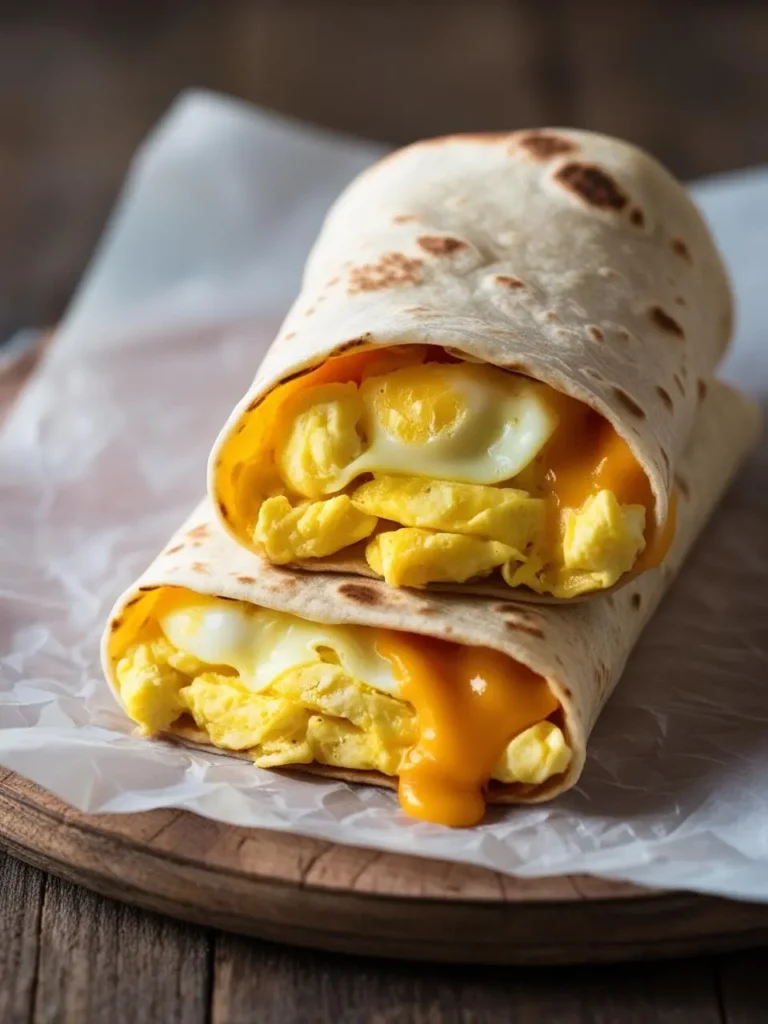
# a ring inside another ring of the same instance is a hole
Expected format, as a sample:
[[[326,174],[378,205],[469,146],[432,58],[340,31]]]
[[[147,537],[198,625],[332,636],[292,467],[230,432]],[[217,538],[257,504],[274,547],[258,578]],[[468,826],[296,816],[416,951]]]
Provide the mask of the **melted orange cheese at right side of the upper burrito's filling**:
[[[627,441],[599,413],[574,398],[559,394],[557,412],[557,430],[537,458],[544,472],[542,489],[556,510],[552,528],[559,529],[563,509],[580,509],[591,495],[612,490],[621,505],[646,509],[646,546],[634,572],[658,565],[675,537],[675,496],[659,529],[650,481]]]

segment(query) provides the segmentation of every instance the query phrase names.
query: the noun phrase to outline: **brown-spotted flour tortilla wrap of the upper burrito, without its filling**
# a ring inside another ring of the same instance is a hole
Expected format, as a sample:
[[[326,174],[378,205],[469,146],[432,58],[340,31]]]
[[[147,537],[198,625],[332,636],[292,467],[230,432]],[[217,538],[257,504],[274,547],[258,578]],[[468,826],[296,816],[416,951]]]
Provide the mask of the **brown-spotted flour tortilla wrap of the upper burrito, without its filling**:
[[[642,151],[562,129],[419,142],[329,213],[301,294],[213,447],[209,494],[250,546],[238,465],[265,396],[333,355],[428,343],[600,412],[647,472],[662,523],[732,318],[701,215]],[[361,549],[304,567],[372,574]],[[512,593],[499,579],[451,589]]]

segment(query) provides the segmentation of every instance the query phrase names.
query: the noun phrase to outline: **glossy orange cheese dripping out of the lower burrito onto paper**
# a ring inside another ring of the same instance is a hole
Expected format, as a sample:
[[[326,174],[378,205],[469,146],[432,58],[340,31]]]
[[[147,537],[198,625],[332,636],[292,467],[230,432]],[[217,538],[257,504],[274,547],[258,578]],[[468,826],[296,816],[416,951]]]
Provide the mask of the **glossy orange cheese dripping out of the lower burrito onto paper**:
[[[376,648],[419,720],[400,771],[403,810],[444,825],[477,824],[507,744],[555,712],[557,698],[542,676],[486,647],[380,630]]]

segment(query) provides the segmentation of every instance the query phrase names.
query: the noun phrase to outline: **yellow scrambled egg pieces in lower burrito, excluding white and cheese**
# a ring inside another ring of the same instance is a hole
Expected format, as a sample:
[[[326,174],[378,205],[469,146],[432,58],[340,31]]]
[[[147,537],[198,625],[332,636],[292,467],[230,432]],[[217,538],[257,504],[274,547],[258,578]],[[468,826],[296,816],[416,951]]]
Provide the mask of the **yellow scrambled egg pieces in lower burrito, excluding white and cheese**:
[[[282,672],[258,692],[249,680],[184,654],[165,637],[133,644],[118,662],[125,708],[146,734],[184,715],[211,743],[245,751],[259,767],[319,764],[397,775],[418,738],[413,707],[318,659]],[[538,784],[567,768],[571,753],[552,722],[511,740],[493,777]]]

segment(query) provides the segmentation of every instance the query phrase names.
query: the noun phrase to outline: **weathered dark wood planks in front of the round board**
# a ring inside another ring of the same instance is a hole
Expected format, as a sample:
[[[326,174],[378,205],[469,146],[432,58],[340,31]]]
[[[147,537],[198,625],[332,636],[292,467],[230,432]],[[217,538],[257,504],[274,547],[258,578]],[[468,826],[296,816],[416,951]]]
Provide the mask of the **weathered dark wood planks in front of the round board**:
[[[341,957],[176,926],[0,854],[3,1024],[763,1024],[766,964],[766,950],[609,970]]]

